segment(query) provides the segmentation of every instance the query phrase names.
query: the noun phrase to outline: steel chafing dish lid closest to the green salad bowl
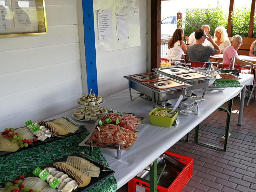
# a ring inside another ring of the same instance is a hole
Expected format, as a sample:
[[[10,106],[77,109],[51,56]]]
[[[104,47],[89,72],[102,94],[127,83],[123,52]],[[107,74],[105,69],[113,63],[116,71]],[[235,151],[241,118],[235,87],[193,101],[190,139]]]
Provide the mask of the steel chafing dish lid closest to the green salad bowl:
[[[157,91],[171,91],[190,87],[191,85],[178,81],[176,79],[166,78],[157,81],[144,82],[142,84],[147,85],[149,88],[153,88]]]

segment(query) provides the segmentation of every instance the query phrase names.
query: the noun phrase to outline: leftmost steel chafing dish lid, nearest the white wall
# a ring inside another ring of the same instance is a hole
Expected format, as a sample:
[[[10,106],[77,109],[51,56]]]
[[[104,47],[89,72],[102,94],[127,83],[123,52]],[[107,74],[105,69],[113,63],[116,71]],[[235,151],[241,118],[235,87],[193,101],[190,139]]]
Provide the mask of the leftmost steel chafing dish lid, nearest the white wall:
[[[125,78],[127,78],[127,77],[134,79],[136,81],[139,81],[139,82],[148,82],[148,81],[154,81],[154,80],[158,80],[158,79],[167,78],[166,76],[155,73],[155,72],[129,75],[129,76],[126,76]]]

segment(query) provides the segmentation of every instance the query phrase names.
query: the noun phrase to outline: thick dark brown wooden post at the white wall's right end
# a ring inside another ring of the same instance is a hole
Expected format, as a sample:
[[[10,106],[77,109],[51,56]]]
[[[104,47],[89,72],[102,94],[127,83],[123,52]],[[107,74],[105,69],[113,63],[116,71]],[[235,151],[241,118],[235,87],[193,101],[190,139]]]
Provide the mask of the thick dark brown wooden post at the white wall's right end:
[[[161,0],[151,0],[151,71],[161,67]]]

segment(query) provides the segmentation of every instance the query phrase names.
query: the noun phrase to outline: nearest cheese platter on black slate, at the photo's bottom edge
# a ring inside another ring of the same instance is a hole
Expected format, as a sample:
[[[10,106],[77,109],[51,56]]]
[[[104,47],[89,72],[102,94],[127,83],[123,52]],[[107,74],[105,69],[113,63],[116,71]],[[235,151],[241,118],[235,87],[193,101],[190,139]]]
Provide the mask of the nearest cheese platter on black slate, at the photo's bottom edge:
[[[33,173],[17,176],[16,180],[7,183],[5,189],[18,183],[17,187],[25,190],[32,188],[48,192],[81,192],[114,174],[113,170],[105,167],[104,162],[85,155],[84,152],[75,153],[52,164],[36,167]]]

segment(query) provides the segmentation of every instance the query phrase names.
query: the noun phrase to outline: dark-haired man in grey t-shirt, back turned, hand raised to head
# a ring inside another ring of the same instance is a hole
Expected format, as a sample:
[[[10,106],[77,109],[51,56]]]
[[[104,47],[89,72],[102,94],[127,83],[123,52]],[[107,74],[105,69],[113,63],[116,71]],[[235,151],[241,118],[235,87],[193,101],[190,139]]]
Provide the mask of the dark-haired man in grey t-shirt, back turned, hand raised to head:
[[[187,47],[186,58],[188,58],[190,62],[210,62],[210,56],[220,54],[219,46],[213,41],[212,37],[209,34],[205,34],[205,31],[203,29],[198,29],[195,32],[195,37],[196,44]],[[214,48],[202,45],[206,37]],[[215,70],[217,69],[215,66],[213,66],[213,68]]]

